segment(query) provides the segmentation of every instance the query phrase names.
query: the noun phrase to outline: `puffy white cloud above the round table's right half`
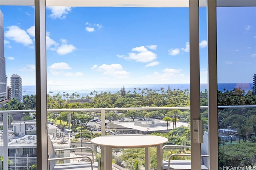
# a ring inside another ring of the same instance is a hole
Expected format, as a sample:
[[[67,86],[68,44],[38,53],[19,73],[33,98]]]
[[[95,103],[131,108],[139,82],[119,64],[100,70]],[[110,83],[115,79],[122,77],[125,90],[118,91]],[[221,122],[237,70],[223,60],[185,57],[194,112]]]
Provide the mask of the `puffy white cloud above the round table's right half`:
[[[117,57],[124,58],[126,60],[134,60],[140,63],[148,63],[157,58],[156,54],[152,51],[148,51],[144,46],[132,48],[131,53],[128,53],[128,56],[116,55]]]

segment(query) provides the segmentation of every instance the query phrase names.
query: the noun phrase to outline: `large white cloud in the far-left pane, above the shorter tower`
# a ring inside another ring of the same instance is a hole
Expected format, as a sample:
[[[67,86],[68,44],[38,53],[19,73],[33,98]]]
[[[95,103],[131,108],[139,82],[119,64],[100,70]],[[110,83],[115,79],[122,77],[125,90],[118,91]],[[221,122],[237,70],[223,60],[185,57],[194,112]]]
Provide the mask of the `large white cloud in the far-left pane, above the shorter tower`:
[[[21,43],[22,45],[31,45],[33,44],[32,39],[30,36],[24,31],[23,29],[20,29],[20,27],[16,25],[12,25],[10,27],[7,27],[9,30],[4,33],[4,36],[8,39],[11,39],[17,43]]]

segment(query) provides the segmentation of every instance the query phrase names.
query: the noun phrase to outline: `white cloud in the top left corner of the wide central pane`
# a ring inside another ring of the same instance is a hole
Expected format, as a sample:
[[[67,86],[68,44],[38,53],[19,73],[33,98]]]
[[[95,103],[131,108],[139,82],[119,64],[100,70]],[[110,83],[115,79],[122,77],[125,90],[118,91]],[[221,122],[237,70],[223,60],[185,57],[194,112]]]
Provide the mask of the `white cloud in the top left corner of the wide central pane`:
[[[50,14],[52,19],[64,19],[66,18],[66,15],[72,10],[72,7],[68,6],[48,6],[47,8],[52,12],[52,14]]]

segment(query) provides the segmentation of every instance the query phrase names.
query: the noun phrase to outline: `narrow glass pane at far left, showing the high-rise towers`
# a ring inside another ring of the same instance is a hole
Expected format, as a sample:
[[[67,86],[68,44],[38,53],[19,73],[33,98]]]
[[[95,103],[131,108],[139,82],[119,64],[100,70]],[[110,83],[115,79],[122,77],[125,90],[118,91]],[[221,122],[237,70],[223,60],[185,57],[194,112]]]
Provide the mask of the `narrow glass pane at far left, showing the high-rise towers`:
[[[0,11],[0,166],[36,169],[34,7]]]

